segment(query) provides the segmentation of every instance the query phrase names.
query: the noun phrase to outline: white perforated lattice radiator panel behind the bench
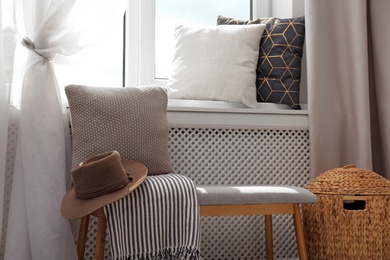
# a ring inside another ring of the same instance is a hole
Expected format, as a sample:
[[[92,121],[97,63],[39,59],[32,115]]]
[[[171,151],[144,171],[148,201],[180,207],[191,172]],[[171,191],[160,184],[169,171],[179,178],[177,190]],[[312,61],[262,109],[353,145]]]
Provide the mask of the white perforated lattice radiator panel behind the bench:
[[[170,130],[175,172],[197,184],[283,184],[309,181],[306,130]],[[298,258],[292,217],[273,217],[276,259]],[[262,216],[202,217],[204,259],[264,259]]]

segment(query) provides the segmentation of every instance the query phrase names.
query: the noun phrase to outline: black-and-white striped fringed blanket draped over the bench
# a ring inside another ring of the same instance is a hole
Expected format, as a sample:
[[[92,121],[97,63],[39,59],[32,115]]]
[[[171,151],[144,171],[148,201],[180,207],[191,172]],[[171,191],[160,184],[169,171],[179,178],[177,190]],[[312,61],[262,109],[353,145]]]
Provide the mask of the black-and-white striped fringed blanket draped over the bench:
[[[179,174],[148,176],[105,207],[113,259],[200,259],[195,184]]]

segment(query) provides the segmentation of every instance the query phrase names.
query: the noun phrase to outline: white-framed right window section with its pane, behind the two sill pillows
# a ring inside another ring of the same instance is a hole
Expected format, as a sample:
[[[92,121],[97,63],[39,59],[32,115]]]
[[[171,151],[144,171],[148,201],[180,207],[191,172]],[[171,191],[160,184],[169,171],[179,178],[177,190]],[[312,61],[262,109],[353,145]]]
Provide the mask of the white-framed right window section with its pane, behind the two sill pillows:
[[[303,14],[304,0],[129,0],[125,86],[165,85],[175,23],[215,25],[217,16],[250,19]]]

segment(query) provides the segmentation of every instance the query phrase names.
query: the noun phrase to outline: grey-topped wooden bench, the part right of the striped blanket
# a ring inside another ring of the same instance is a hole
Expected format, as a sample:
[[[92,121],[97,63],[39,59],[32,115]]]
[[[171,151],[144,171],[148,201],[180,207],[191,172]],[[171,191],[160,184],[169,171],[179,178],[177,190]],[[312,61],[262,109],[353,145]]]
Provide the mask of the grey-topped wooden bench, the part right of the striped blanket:
[[[201,216],[264,215],[267,259],[273,259],[272,215],[291,214],[299,258],[307,259],[299,204],[317,202],[310,191],[280,185],[200,185],[196,192]]]

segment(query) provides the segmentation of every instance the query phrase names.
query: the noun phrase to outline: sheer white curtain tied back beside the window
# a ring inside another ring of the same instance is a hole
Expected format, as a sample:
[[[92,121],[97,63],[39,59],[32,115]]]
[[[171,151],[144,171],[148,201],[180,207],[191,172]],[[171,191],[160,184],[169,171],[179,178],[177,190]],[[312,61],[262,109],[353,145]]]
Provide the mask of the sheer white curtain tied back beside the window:
[[[9,103],[18,107],[20,123],[8,223],[5,225],[5,259],[77,258],[69,222],[60,214],[69,178],[70,138],[54,64],[69,62],[70,56],[88,47],[87,42],[104,36],[104,29],[108,28],[111,15],[123,15],[125,4],[118,8],[118,5],[114,6],[110,2],[12,1],[13,21],[18,37],[14,57],[3,55],[2,42],[5,38],[3,33],[0,34],[2,185],[7,156]],[[1,16],[9,12],[1,11]],[[93,21],[84,19],[83,26],[83,19],[80,17],[87,12],[96,12],[97,15]],[[93,35],[96,32],[99,34]],[[87,36],[92,36],[93,39],[88,39]],[[5,60],[10,57],[14,61]],[[10,91],[5,84],[4,63],[13,64]],[[11,98],[8,98],[9,93]],[[0,188],[0,199],[3,202],[4,187]]]

